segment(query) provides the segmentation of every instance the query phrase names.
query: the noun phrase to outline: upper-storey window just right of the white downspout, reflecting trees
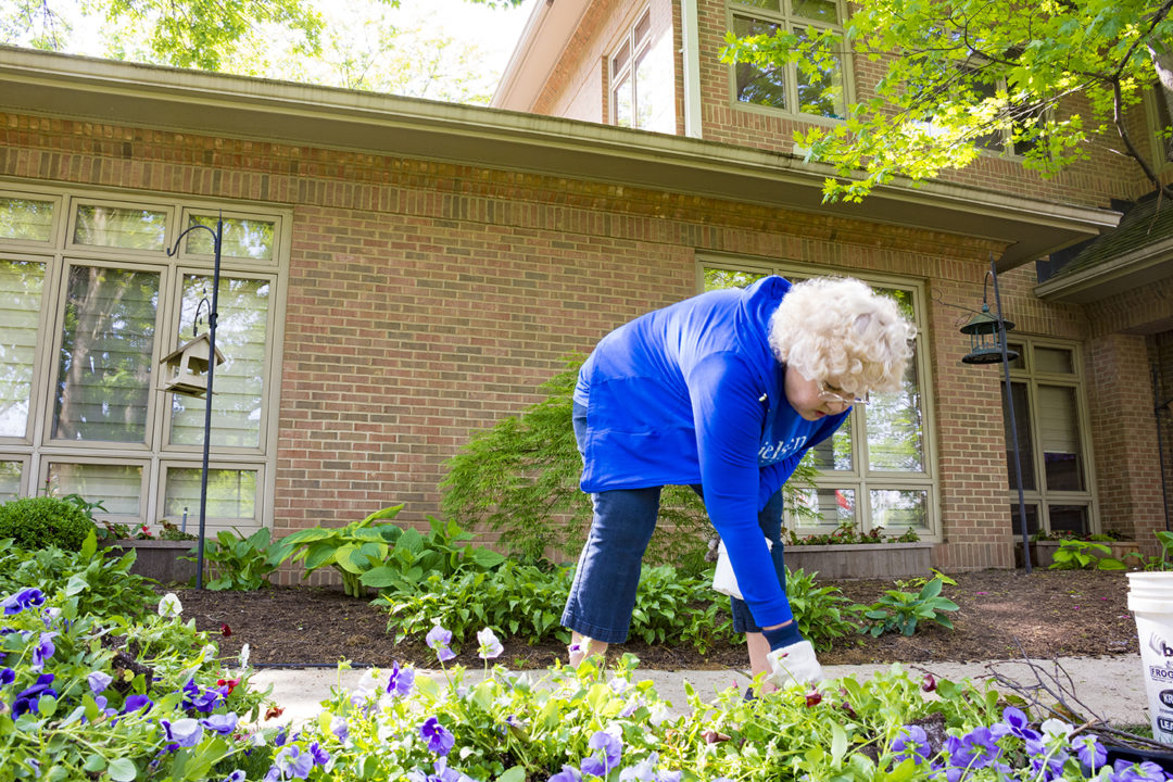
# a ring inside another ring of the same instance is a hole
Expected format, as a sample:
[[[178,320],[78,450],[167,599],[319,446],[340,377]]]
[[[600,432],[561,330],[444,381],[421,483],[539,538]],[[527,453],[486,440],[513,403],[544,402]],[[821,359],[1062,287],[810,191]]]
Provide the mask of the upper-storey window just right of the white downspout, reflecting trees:
[[[812,30],[842,32],[839,0],[737,0],[730,9],[738,38],[789,32],[801,42]],[[847,107],[846,73],[842,55],[821,67],[800,57],[796,64],[771,70],[738,62],[733,66],[733,94],[740,103],[841,118]]]

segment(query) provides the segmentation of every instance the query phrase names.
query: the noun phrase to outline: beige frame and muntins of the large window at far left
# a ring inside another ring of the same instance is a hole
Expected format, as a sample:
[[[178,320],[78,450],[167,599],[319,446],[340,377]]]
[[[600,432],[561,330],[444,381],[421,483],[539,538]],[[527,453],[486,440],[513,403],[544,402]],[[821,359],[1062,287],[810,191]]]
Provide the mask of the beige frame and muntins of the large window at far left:
[[[182,298],[178,280],[183,273],[211,274],[212,256],[188,253],[184,243],[176,257],[168,257],[167,249],[174,246],[176,237],[187,227],[188,215],[223,215],[225,219],[243,218],[272,222],[273,251],[267,260],[222,257],[221,277],[249,277],[267,279],[272,285],[266,328],[267,351],[265,355],[266,388],[262,402],[260,442],[256,449],[217,448],[212,449],[210,469],[249,469],[258,470],[257,514],[258,522],[272,526],[276,497],[277,449],[279,444],[277,410],[280,404],[280,360],[284,352],[284,322],[286,297],[290,279],[290,257],[292,251],[293,212],[284,205],[270,205],[231,199],[210,200],[206,198],[184,198],[176,193],[155,191],[137,191],[103,188],[59,188],[41,183],[26,183],[19,179],[0,179],[0,196],[15,198],[35,198],[54,203],[52,238],[48,242],[0,239],[0,254],[16,260],[33,260],[46,265],[45,284],[41,292],[41,315],[38,320],[39,345],[52,345],[49,349],[39,351],[34,365],[32,401],[23,437],[0,437],[0,460],[20,462],[22,477],[20,496],[35,496],[42,491],[48,475],[49,463],[89,463],[89,464],[133,464],[143,467],[143,503],[137,517],[111,515],[111,521],[122,523],[155,523],[161,518],[157,512],[162,508],[165,492],[165,467],[199,468],[202,446],[169,446],[163,438],[170,427],[170,408],[168,393],[157,388],[158,359],[174,349],[182,327],[162,319],[156,333],[152,349],[152,389],[149,404],[149,419],[154,426],[148,428],[147,440],[151,447],[134,443],[95,443],[65,440],[49,440],[55,394],[53,381],[57,372],[55,360],[61,344],[61,307],[63,307],[63,287],[68,280],[70,264],[100,265],[118,268],[158,270],[160,308],[177,307]],[[160,251],[128,250],[123,247],[80,245],[73,242],[76,205],[100,204],[128,209],[169,210],[167,242],[170,243]],[[181,222],[182,220],[182,222]],[[160,270],[160,266],[165,268]],[[164,301],[168,299],[169,301]],[[171,310],[177,312],[177,310]],[[190,325],[188,325],[190,326]],[[170,346],[170,347],[169,347]],[[157,413],[156,413],[157,410]],[[198,521],[198,509],[196,510]],[[99,515],[99,517],[102,517]],[[189,522],[192,519],[189,517]],[[216,526],[222,529],[242,528],[233,519],[217,519]],[[211,528],[209,528],[211,529]],[[243,528],[242,528],[243,529]],[[211,532],[209,532],[211,535]]]

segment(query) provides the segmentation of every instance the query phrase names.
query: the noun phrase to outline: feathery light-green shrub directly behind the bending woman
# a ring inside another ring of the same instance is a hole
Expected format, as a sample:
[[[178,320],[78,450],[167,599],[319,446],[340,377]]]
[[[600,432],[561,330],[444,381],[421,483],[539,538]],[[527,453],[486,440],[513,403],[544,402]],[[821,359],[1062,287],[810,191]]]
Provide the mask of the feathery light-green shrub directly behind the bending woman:
[[[466,528],[484,524],[522,562],[552,553],[571,559],[586,539],[590,497],[578,489],[582,456],[575,443],[574,400],[583,356],[541,386],[545,399],[472,437],[446,467],[440,483],[446,516]],[[647,562],[704,557],[710,528],[704,503],[686,487],[669,487],[660,501]]]

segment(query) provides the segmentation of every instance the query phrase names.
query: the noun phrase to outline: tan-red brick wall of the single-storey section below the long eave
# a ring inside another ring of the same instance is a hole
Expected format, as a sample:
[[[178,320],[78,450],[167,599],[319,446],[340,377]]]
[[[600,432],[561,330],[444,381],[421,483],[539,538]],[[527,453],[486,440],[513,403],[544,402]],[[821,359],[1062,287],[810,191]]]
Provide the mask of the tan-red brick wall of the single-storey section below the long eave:
[[[998,375],[962,367],[990,252],[968,237],[579,182],[0,114],[0,176],[293,210],[274,532],[394,503],[436,514],[442,463],[536,401],[560,356],[696,293],[698,254],[928,281],[934,444],[948,546],[1008,566]],[[1023,328],[1079,338],[1078,308],[1004,277]],[[1019,314],[1021,313],[1021,314]],[[1121,360],[1144,360],[1132,353]],[[1150,419],[1151,420],[1151,416]]]

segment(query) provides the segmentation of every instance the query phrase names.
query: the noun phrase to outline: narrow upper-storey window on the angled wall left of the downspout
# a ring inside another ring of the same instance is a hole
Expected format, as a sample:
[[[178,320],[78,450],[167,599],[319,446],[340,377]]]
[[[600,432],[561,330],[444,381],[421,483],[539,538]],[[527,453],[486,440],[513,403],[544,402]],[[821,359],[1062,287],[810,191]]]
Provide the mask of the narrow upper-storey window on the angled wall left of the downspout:
[[[669,36],[652,36],[645,9],[611,56],[611,122],[622,128],[676,132]]]

